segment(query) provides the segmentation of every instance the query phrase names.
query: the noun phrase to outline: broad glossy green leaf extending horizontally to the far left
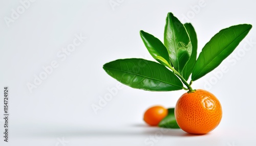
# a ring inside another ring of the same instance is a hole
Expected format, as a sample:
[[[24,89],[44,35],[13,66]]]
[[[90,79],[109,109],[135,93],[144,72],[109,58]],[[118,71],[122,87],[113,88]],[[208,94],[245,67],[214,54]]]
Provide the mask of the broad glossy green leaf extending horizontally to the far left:
[[[183,84],[165,66],[144,59],[119,59],[103,65],[117,81],[136,89],[148,91],[181,90]]]

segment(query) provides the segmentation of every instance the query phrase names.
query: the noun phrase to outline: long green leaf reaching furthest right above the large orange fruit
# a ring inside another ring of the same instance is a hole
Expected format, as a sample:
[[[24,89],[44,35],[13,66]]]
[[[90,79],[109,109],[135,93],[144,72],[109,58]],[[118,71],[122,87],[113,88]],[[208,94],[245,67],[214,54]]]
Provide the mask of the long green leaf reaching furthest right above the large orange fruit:
[[[192,80],[198,80],[220,65],[234,51],[251,28],[252,26],[247,24],[232,26],[221,30],[212,37],[198,57],[192,73]]]

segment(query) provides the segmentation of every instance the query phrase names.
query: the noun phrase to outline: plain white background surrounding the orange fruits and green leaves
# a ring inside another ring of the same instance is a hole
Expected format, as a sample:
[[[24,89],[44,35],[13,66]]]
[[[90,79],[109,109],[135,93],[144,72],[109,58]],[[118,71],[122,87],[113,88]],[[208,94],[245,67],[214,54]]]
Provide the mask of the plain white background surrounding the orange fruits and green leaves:
[[[104,63],[119,58],[153,60],[140,30],[163,40],[165,17],[173,12],[195,27],[198,52],[221,29],[240,23],[253,26],[246,39],[256,42],[254,2],[205,0],[200,7],[197,0],[113,1],[118,5],[111,7],[109,0],[38,0],[8,23],[12,9],[17,12],[23,5],[1,0],[0,131],[4,132],[3,87],[9,86],[10,142],[1,136],[0,145],[255,145],[256,44],[245,40],[229,60],[193,84],[214,93],[222,104],[222,121],[209,134],[166,132],[143,122],[148,107],[174,107],[183,90],[148,92],[122,86],[97,114],[92,109],[118,83],[104,72]],[[57,54],[76,34],[87,39],[62,61]],[[58,67],[30,92],[27,84],[54,60]],[[152,137],[155,141],[149,140]]]

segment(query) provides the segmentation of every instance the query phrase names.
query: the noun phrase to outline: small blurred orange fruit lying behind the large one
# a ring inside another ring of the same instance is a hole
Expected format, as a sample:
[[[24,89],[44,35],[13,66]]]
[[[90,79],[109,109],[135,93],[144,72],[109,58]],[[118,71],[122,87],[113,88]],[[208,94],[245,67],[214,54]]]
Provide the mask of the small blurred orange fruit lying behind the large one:
[[[168,114],[168,110],[162,106],[154,106],[144,113],[144,121],[150,126],[157,126]]]

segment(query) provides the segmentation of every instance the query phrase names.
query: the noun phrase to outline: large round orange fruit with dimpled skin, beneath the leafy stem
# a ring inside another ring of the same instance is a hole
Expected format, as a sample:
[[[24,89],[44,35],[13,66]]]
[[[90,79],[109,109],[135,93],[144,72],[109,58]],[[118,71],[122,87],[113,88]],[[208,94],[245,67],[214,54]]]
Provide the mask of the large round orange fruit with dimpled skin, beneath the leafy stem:
[[[220,124],[222,108],[214,94],[198,89],[180,97],[175,107],[175,117],[185,132],[206,134]]]

